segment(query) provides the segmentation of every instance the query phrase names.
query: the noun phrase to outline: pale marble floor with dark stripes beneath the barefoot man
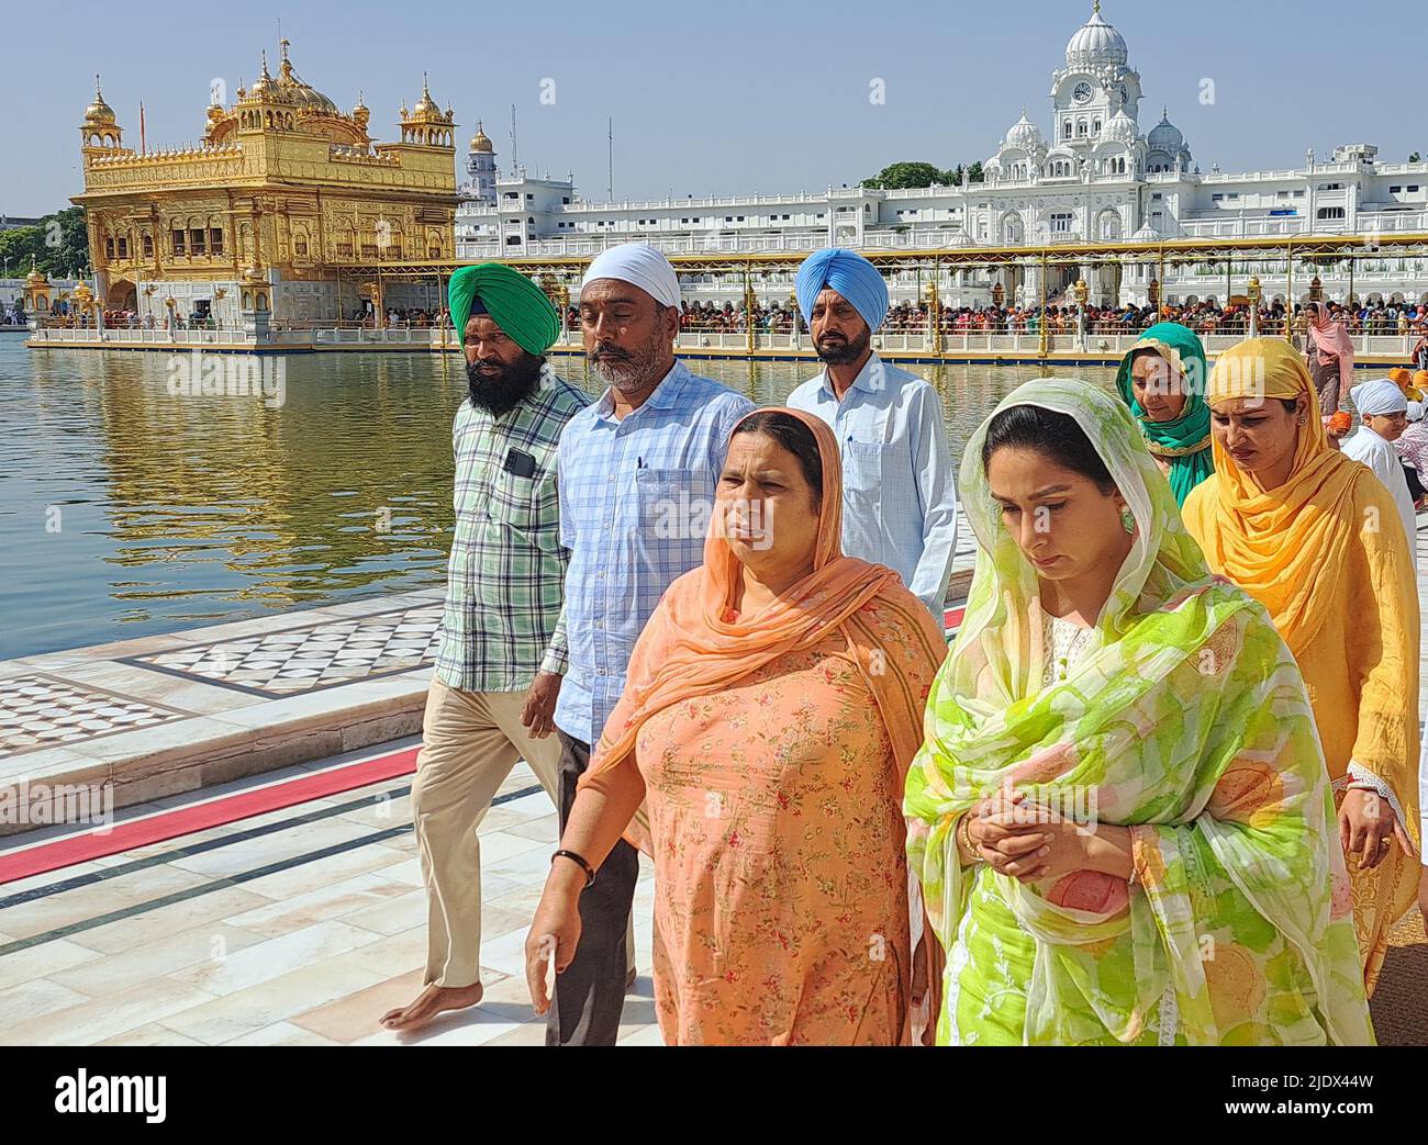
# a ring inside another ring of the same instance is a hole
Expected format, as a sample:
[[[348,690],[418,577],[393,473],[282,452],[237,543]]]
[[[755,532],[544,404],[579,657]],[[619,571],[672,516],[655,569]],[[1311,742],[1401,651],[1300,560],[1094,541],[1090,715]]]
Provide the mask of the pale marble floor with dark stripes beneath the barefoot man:
[[[370,755],[163,800],[120,819]],[[0,1044],[540,1045],[544,1022],[531,1011],[523,944],[555,814],[524,764],[480,829],[484,999],[414,1035],[378,1027],[420,991],[426,959],[408,791],[410,777],[388,780],[0,885]],[[648,978],[651,878],[645,865],[635,895],[640,978],[621,1038],[631,1045],[660,1041]]]

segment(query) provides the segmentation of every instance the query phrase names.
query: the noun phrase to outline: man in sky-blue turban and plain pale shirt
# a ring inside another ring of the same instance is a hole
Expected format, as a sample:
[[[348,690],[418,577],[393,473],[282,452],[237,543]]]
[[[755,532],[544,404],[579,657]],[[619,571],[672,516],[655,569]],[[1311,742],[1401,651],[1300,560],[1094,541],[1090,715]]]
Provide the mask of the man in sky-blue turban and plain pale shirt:
[[[888,365],[873,334],[888,311],[878,268],[851,250],[804,260],[794,286],[824,371],[788,404],[833,427],[843,454],[843,551],[897,570],[942,624],[957,550],[957,488],[942,403]]]

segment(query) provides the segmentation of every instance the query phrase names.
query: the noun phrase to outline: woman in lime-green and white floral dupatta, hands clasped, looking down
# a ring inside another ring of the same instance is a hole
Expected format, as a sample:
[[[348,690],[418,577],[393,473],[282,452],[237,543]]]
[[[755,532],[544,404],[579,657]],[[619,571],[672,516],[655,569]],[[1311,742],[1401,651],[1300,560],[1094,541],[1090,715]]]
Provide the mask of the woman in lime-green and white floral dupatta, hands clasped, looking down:
[[[1212,578],[1124,405],[1021,385],[907,778],[940,1044],[1371,1044],[1304,680]]]

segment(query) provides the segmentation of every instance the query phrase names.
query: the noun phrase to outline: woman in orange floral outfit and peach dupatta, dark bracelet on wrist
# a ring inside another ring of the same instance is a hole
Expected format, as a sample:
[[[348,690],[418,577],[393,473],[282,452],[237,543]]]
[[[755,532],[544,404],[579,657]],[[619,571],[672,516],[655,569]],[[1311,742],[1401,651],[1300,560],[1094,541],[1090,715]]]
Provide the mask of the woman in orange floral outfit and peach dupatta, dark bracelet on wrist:
[[[892,570],[843,555],[841,481],[815,417],[734,428],[704,565],[640,635],[551,861],[526,945],[537,1012],[643,802],[665,1042],[895,1045],[921,1025],[912,981],[937,975],[912,949],[935,938],[910,911],[901,791],[947,644]]]

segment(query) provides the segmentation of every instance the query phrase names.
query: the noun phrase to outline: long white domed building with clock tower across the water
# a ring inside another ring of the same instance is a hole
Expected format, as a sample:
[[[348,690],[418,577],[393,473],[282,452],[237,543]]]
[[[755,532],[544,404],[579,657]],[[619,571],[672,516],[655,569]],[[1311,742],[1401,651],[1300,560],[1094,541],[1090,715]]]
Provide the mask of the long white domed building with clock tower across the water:
[[[1050,130],[1025,109],[985,163],[985,181],[964,187],[883,191],[827,188],[780,196],[623,200],[580,196],[573,177],[500,173],[484,133],[471,140],[468,181],[460,188],[457,257],[591,256],[608,246],[648,241],[668,254],[813,250],[848,246],[864,251],[947,250],[971,246],[1048,246],[1081,241],[1144,241],[1182,237],[1375,234],[1428,231],[1428,163],[1381,163],[1371,144],[1335,147],[1328,160],[1312,151],[1295,170],[1202,171],[1165,110],[1141,130],[1141,76],[1125,37],[1101,16],[1071,36],[1051,73]],[[1331,297],[1348,294],[1348,271],[1297,267],[1292,293],[1302,298],[1318,273]],[[1084,277],[1097,304],[1144,303],[1157,270],[1151,264],[1094,266],[1052,271],[1058,296]],[[1174,301],[1242,293],[1258,274],[1267,298],[1282,297],[1284,261],[1237,266],[1227,291],[1220,267],[1167,267],[1165,297]],[[1355,264],[1358,297],[1428,297],[1428,260],[1385,256]],[[1034,304],[1037,270],[970,270],[942,274],[952,306],[1002,297]],[[925,276],[924,276],[925,277]],[[894,276],[895,297],[918,288],[911,273]],[[691,297],[737,301],[743,284],[730,277],[688,280]],[[755,284],[761,297],[787,298],[788,276]]]

